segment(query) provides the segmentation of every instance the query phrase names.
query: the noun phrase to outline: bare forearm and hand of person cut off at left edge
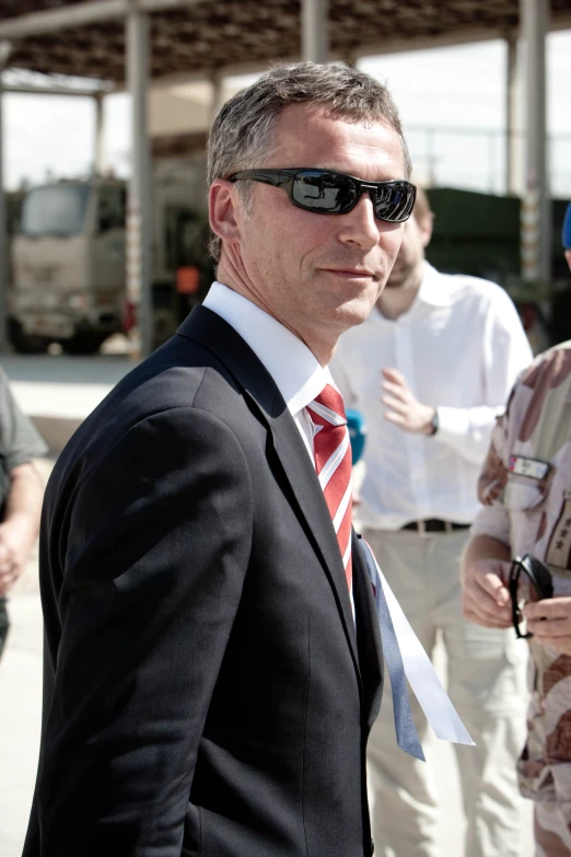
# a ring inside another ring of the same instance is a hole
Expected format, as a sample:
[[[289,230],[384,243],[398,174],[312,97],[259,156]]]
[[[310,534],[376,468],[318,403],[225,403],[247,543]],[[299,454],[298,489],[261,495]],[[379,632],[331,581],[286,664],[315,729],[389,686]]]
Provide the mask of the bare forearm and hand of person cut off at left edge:
[[[4,520],[0,523],[0,597],[22,574],[39,529],[44,486],[32,462],[10,471]]]

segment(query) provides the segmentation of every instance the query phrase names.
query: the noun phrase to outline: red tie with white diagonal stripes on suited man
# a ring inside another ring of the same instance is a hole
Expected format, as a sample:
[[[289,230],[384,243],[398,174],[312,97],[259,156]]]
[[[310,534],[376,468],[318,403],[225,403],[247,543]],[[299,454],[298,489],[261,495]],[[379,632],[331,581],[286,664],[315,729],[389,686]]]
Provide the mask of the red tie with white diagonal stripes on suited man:
[[[307,410],[314,424],[315,470],[337,534],[347,586],[351,591],[351,444],[343,399],[335,387],[327,384],[310,402]]]

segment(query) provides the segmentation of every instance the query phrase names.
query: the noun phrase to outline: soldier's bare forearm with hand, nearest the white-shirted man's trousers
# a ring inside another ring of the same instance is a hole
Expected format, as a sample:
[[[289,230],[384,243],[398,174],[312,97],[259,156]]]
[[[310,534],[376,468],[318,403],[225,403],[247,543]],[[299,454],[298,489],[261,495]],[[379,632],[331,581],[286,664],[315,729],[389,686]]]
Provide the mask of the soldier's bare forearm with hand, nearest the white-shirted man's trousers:
[[[465,617],[487,628],[512,624],[506,582],[511,552],[503,542],[476,535],[462,557],[462,609]]]

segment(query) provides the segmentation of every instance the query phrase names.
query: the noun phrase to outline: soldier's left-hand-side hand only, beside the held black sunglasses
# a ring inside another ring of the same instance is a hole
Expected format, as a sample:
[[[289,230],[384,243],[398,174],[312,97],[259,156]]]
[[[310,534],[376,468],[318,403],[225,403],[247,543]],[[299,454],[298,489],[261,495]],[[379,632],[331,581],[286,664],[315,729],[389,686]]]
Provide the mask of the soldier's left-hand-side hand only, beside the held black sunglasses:
[[[462,612],[476,625],[509,628],[512,625],[510,592],[505,586],[511,563],[478,559],[464,569]]]

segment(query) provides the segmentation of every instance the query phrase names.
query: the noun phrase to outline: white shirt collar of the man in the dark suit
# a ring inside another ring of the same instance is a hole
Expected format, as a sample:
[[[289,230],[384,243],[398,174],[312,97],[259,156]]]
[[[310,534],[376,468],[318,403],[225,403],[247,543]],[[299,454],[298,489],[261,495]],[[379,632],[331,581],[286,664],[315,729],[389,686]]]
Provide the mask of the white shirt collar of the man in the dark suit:
[[[264,363],[292,416],[334,384],[329,369],[291,331],[247,298],[214,281],[203,301],[228,322]],[[337,389],[337,387],[336,387]]]

